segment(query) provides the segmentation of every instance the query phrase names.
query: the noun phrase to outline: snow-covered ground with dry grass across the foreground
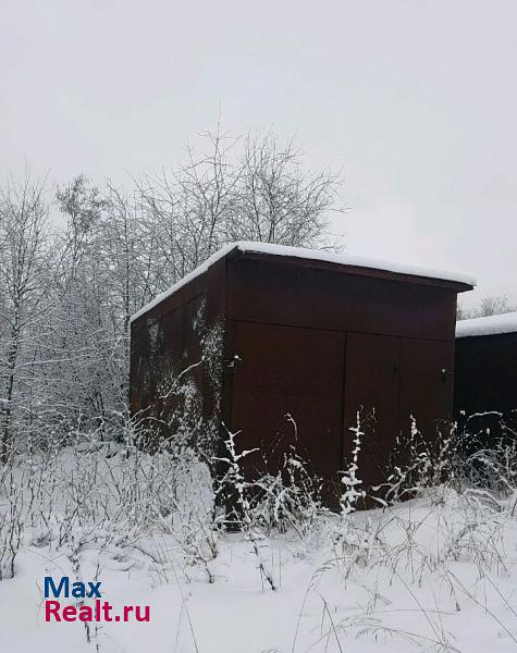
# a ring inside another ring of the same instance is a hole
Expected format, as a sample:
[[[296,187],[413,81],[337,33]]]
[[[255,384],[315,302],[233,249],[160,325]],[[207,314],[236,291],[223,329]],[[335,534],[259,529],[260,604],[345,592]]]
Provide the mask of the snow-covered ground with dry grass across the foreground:
[[[438,488],[346,519],[320,515],[303,534],[257,534],[273,591],[243,534],[211,532],[213,556],[189,545],[198,515],[184,513],[186,530],[164,528],[164,518],[146,531],[136,515],[139,530],[130,533],[120,513],[90,512],[98,494],[78,497],[75,520],[63,518],[72,504],[59,488],[56,506],[37,492],[42,519],[26,519],[14,577],[0,581],[2,653],[517,651],[515,497]],[[46,623],[46,576],[101,581],[115,613],[149,605],[150,621],[91,624],[89,633],[81,621]]]

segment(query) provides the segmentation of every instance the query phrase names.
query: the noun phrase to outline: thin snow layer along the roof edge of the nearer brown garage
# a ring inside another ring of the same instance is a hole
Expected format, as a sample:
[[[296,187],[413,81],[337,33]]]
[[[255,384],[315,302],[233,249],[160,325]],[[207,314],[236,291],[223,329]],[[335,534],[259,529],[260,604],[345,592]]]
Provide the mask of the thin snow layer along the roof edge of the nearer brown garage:
[[[238,241],[236,243],[230,243],[229,245],[225,245],[224,247],[219,249],[219,251],[213,254],[204,263],[201,263],[198,268],[196,268],[189,274],[184,276],[176,284],[171,286],[168,291],[155,297],[152,301],[150,301],[149,304],[144,306],[138,312],[136,312],[131,318],[131,321],[133,322],[140,316],[145,315],[147,311],[151,310],[151,308],[155,308],[155,306],[160,304],[160,301],[163,301],[163,299],[171,296],[181,287],[189,283],[193,279],[196,279],[196,276],[199,276],[200,274],[206,272],[211,266],[213,266],[213,263],[219,261],[221,258],[227,256],[231,251],[234,251],[235,249],[243,252],[250,251],[259,254],[270,254],[274,256],[290,256],[313,261],[338,263],[341,266],[384,270],[386,272],[393,272],[395,274],[410,274],[413,276],[424,276],[427,279],[440,279],[446,281],[454,281],[457,283],[464,283],[472,287],[476,286],[476,280],[471,276],[458,274],[455,272],[446,272],[444,270],[421,268],[419,266],[406,266],[403,263],[389,262],[367,257],[348,255],[345,256],[320,249],[304,249],[301,247],[288,247],[286,245],[273,245],[271,243],[251,243],[247,241]]]

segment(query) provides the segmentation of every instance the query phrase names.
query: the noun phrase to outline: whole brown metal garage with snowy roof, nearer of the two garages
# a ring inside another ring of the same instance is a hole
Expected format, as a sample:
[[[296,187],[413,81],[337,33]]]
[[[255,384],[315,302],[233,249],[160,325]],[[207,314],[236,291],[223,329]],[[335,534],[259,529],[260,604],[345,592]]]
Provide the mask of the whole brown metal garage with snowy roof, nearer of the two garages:
[[[410,415],[428,438],[452,417],[456,296],[472,286],[324,251],[229,245],[134,316],[132,410],[167,434],[177,414],[167,387],[188,368],[212,440],[223,422],[260,449],[250,477],[280,465],[290,415],[298,453],[332,483],[361,409],[361,476],[378,483]]]

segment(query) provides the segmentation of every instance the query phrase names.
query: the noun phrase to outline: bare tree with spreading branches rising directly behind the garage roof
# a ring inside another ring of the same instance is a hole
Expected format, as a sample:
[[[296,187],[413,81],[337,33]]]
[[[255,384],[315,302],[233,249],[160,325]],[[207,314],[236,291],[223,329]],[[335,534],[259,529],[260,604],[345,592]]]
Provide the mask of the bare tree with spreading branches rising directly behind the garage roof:
[[[340,177],[307,172],[293,140],[272,133],[231,138],[206,132],[200,150],[159,177],[135,182],[152,275],[167,287],[225,243],[329,247]]]

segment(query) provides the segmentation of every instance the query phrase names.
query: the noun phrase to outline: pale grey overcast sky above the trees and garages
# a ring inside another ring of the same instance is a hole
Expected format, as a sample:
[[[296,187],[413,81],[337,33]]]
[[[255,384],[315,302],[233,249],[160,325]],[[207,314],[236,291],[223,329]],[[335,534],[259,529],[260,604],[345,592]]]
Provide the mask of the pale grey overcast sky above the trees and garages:
[[[123,182],[221,113],[344,167],[349,254],[517,301],[516,0],[0,0],[0,66],[2,177]]]

